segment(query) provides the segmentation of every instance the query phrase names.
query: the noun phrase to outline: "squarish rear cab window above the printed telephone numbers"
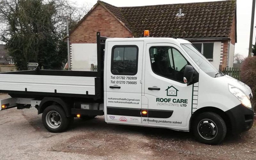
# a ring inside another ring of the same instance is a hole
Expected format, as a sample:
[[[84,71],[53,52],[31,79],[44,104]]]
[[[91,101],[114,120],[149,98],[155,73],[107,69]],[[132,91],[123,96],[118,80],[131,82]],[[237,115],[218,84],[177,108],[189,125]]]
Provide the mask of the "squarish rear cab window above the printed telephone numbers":
[[[136,75],[138,71],[138,47],[114,46],[111,72],[114,75]]]

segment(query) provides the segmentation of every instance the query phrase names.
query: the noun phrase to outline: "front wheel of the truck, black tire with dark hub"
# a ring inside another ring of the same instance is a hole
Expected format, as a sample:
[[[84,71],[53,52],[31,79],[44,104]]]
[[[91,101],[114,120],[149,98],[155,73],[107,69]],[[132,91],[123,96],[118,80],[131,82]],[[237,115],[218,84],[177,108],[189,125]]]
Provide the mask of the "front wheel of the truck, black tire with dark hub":
[[[195,117],[191,128],[196,140],[204,144],[220,144],[227,134],[225,121],[213,112],[204,112]]]

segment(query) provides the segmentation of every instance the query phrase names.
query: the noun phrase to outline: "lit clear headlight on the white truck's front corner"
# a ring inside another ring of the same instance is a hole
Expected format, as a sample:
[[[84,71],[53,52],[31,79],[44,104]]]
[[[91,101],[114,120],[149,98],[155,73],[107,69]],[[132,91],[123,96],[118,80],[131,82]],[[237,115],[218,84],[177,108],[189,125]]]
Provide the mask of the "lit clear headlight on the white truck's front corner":
[[[231,92],[241,103],[248,108],[252,108],[250,99],[244,94],[243,91],[234,87],[233,85],[228,84],[229,92]]]

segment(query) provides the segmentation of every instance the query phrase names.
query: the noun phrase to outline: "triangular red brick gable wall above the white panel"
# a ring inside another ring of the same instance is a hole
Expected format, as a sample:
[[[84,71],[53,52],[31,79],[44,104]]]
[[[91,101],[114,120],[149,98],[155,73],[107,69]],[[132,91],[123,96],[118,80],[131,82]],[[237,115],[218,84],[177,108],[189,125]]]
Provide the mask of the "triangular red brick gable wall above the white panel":
[[[96,43],[96,32],[106,37],[133,37],[115,17],[101,5],[96,6],[78,27],[70,33],[70,43]]]

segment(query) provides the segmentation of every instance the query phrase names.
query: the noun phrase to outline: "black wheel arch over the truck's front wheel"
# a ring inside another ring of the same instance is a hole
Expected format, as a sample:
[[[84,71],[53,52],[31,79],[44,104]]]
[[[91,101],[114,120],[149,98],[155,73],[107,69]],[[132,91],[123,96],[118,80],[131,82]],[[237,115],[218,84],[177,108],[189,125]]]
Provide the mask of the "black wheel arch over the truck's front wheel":
[[[224,112],[220,108],[216,108],[216,107],[203,107],[203,108],[197,109],[196,112],[194,112],[192,114],[192,116],[190,117],[190,120],[189,120],[189,130],[191,129],[191,125],[192,125],[193,120],[195,119],[195,117],[198,116],[201,113],[204,113],[204,112],[213,112],[213,113],[218,114],[225,121],[226,126],[227,126],[227,130],[228,131],[232,130],[231,120],[230,120],[229,116],[226,114],[226,112]]]

